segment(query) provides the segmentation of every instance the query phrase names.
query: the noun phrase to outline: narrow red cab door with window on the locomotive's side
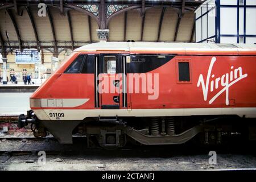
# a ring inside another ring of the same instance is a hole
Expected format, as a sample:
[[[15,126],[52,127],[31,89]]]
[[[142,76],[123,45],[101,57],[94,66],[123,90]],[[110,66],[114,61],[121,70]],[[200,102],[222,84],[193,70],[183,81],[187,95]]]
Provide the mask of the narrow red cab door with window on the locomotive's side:
[[[122,62],[119,54],[101,54],[98,92],[101,109],[119,109],[121,103]]]

